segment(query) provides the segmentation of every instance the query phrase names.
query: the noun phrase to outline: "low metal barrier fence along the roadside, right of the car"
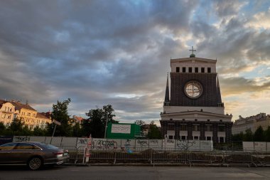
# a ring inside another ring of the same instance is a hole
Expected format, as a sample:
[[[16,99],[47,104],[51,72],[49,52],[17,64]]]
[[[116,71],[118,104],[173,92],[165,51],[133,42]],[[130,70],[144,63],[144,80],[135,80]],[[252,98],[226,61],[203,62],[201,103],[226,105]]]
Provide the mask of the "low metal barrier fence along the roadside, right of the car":
[[[78,152],[80,153],[80,152]],[[141,152],[124,152],[121,150],[90,150],[88,164],[197,164],[229,166],[241,164],[246,166],[270,166],[270,152],[175,152],[146,149]],[[82,163],[83,154],[77,157]]]

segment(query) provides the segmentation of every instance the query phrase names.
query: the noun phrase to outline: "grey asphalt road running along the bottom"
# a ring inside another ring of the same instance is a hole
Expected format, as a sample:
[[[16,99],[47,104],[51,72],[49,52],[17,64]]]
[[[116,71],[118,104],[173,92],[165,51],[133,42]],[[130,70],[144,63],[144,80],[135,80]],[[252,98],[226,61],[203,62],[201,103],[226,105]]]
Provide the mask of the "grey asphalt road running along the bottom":
[[[152,179],[270,179],[270,168],[188,166],[56,166],[29,171],[21,166],[0,166],[0,180],[152,180]]]

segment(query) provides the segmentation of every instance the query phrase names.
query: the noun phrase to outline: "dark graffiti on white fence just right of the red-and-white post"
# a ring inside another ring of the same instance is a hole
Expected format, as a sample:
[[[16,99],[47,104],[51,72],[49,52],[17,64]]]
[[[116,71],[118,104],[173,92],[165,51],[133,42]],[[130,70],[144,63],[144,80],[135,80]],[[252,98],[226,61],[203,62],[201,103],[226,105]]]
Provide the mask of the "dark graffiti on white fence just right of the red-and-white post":
[[[109,150],[109,149],[116,149],[117,142],[114,140],[107,140],[107,139],[96,139],[92,141],[92,149],[93,150]]]

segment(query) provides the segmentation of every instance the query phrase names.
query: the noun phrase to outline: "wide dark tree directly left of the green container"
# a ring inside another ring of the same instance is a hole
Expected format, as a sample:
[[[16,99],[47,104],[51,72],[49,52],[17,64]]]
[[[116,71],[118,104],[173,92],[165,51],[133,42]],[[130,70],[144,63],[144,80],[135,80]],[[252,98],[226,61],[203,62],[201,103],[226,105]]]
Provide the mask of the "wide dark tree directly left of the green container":
[[[112,105],[104,105],[102,109],[91,109],[85,113],[89,118],[82,122],[82,135],[89,137],[92,134],[95,138],[104,137],[106,122],[118,122],[113,119],[115,116],[113,112]]]

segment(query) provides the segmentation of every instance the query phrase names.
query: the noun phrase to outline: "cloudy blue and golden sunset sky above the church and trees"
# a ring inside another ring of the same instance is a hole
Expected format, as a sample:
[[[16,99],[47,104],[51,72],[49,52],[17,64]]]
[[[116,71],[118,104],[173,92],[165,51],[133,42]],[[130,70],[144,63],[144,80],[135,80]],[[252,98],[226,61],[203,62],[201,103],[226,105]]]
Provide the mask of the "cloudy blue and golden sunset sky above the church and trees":
[[[158,123],[171,58],[217,58],[225,113],[270,114],[270,1],[0,2],[0,99]]]

